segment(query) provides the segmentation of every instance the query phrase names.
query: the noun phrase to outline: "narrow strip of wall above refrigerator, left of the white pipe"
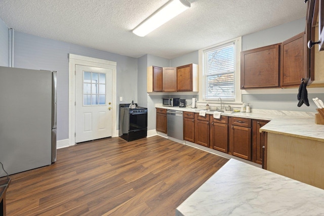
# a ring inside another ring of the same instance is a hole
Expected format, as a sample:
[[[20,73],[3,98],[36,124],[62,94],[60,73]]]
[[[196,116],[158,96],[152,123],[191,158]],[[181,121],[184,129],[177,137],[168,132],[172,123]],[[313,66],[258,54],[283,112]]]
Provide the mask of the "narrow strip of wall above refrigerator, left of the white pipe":
[[[0,19],[0,66],[9,66],[9,33],[2,19]]]

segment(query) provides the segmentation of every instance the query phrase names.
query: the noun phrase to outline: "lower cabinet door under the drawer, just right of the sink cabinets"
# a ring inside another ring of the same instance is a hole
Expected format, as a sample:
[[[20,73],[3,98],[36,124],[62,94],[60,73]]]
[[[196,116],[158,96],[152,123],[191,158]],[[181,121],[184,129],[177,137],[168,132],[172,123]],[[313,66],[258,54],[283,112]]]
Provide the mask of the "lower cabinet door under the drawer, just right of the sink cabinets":
[[[231,126],[232,155],[251,160],[251,128]]]

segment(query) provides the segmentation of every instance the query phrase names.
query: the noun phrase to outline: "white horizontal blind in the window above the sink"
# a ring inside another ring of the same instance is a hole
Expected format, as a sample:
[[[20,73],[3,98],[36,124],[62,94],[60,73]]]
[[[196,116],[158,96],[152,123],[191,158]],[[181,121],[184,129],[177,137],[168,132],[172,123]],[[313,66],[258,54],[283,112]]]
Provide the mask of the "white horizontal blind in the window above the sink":
[[[206,100],[222,98],[235,100],[234,44],[215,48],[205,52],[206,61]]]

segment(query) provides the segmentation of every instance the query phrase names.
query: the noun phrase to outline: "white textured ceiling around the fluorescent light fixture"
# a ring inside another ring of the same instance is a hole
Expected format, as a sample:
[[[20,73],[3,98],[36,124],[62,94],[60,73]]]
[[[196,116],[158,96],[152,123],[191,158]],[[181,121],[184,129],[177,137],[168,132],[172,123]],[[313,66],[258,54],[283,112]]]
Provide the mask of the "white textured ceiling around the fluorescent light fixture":
[[[168,0],[0,0],[9,28],[130,57],[176,58],[306,15],[302,0],[188,0],[191,8],[145,37],[132,33]]]

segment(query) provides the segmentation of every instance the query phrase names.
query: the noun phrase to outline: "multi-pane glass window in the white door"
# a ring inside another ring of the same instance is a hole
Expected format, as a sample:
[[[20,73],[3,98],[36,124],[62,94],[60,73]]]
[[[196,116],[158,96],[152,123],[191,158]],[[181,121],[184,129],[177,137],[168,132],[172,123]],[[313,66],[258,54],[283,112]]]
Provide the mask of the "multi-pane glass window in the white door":
[[[84,71],[83,105],[96,106],[106,104],[106,74]],[[99,84],[101,83],[101,84]]]

